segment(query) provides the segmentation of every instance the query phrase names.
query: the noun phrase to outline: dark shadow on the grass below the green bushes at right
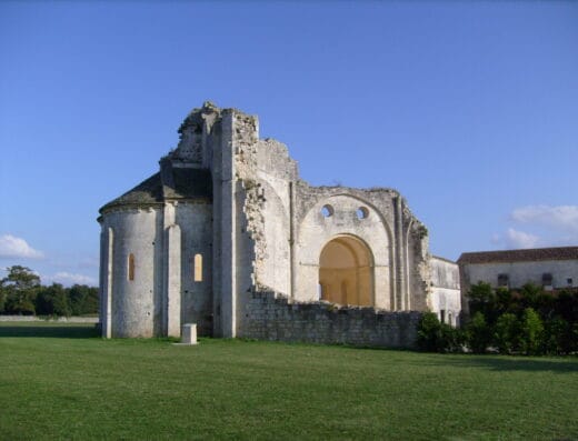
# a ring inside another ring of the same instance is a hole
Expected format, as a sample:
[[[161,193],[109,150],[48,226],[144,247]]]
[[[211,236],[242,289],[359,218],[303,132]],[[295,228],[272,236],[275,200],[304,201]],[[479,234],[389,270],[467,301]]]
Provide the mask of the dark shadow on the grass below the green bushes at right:
[[[423,365],[425,363],[421,363]],[[527,372],[554,372],[554,373],[578,373],[578,358],[565,357],[559,359],[522,358],[508,355],[439,355],[428,364],[456,368],[486,368],[491,371],[527,371]]]

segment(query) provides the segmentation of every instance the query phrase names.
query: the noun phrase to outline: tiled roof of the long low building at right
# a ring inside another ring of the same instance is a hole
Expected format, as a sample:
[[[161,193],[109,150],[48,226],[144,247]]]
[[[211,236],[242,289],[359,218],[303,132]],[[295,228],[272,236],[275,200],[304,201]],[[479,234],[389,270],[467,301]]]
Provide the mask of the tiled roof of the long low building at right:
[[[465,252],[458,263],[531,262],[578,259],[578,247],[534,248],[529,250]]]

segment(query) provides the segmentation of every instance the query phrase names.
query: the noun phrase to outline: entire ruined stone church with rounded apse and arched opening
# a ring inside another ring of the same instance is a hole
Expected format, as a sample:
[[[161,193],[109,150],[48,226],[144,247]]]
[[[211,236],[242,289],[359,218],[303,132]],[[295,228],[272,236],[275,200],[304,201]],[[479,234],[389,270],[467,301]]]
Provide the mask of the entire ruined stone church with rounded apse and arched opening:
[[[192,322],[201,335],[411,345],[415,311],[459,303],[452,282],[432,283],[457,265],[432,263],[396,190],[309,186],[236,109],[206,102],[179,133],[157,173],[100,209],[104,337]]]

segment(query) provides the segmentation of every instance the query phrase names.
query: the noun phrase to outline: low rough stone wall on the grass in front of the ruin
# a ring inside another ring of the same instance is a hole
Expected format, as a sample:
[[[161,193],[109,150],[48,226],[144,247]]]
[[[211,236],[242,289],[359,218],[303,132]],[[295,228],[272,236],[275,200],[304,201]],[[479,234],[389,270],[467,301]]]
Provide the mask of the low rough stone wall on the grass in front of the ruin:
[[[243,312],[240,337],[381,348],[415,348],[421,317],[327,302],[289,303],[272,292],[252,293]]]

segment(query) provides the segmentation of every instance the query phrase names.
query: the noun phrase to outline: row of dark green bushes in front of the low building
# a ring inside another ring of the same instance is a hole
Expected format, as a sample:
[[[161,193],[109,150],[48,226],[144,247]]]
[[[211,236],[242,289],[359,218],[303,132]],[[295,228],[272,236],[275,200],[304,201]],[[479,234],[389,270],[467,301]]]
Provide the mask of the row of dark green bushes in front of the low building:
[[[532,283],[519,290],[479,282],[468,292],[470,320],[461,328],[422,315],[418,345],[426,351],[505,354],[578,352],[578,291],[544,291]]]

